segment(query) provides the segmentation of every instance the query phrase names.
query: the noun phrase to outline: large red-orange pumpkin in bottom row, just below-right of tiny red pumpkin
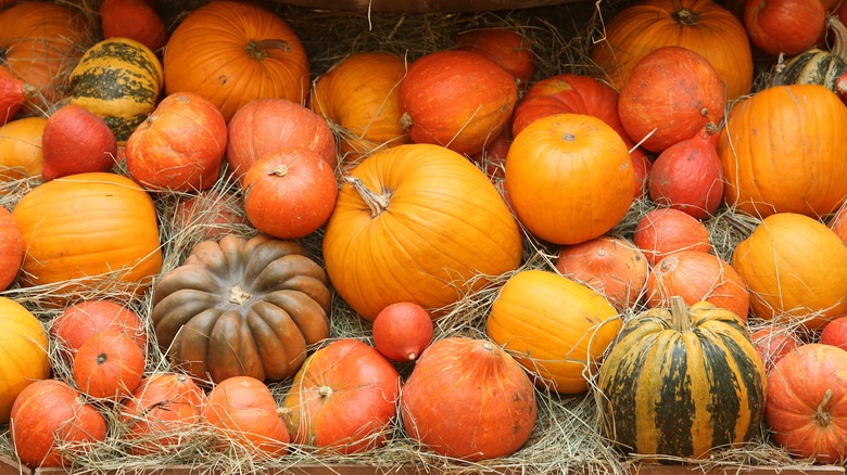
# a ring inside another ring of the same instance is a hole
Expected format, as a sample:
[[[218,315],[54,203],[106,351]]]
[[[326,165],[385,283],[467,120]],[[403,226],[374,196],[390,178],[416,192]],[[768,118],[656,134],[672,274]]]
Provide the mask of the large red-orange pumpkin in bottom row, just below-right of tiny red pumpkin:
[[[403,386],[400,410],[413,440],[467,461],[514,453],[538,418],[523,368],[491,342],[457,336],[423,351]]]

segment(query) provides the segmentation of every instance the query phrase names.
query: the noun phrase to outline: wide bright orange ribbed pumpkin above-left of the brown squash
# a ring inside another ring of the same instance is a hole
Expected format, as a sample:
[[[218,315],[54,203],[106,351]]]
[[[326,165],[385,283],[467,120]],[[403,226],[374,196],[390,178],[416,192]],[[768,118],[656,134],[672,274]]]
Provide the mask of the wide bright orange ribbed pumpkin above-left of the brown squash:
[[[124,176],[58,178],[25,194],[12,214],[26,248],[24,286],[85,278],[71,285],[85,288],[117,274],[110,285],[141,291],[162,268],[153,201]]]

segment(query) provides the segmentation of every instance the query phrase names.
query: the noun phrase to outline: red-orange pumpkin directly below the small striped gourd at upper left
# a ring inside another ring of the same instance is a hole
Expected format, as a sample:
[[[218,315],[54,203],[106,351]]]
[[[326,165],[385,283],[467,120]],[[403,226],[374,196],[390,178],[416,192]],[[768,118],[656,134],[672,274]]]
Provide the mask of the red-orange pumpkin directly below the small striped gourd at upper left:
[[[227,124],[217,106],[193,92],[169,94],[129,136],[126,167],[153,190],[211,188],[220,176]]]

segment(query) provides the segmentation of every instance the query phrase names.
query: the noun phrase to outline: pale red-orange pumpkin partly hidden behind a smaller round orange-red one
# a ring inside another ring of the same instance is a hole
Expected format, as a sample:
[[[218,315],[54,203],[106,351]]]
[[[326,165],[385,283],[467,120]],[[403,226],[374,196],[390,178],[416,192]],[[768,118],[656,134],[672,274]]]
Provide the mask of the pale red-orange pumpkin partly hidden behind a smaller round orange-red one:
[[[226,161],[243,183],[253,162],[277,149],[306,149],[331,168],[338,165],[336,138],[324,117],[283,99],[252,101],[238,110],[227,125]]]

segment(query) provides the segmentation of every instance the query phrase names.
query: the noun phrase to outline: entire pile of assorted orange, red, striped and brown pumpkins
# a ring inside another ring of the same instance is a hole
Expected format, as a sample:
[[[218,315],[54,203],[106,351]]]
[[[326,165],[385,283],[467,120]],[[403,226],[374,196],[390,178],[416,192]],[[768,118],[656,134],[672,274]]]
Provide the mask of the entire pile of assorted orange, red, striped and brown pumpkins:
[[[763,420],[791,454],[843,461],[847,67],[816,49],[834,5],[735,9],[633,3],[596,76],[535,78],[501,28],[408,64],[351,54],[314,82],[256,4],[215,0],[168,33],[150,3],[105,0],[85,51],[91,25],[65,7],[0,11],[39,25],[0,34],[0,177],[20,194],[0,208],[0,422],[17,457],[73,464],[110,431],[176,450],[194,426],[256,458],[357,453],[401,424],[481,461],[527,442],[539,394],[597,391],[624,454],[705,458]],[[756,91],[755,52],[791,56]],[[200,210],[248,231],[168,256],[160,224]],[[724,256],[720,214],[754,223]],[[528,242],[555,261],[522,266]],[[433,333],[492,285],[482,332]],[[14,301],[34,292],[54,319]],[[331,335],[333,295],[372,338]],[[148,345],[167,371],[146,372]]]

